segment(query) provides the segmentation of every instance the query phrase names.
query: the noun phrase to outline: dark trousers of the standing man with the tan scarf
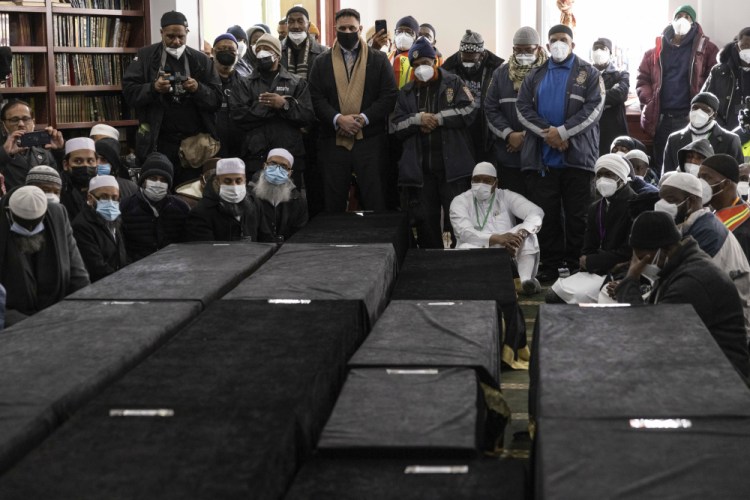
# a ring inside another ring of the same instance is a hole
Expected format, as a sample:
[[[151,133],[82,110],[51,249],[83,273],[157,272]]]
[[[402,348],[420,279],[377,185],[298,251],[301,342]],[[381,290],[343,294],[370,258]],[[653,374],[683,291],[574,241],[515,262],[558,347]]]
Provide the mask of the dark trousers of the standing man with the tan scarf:
[[[335,137],[323,137],[318,151],[326,211],[346,210],[352,173],[357,177],[362,208],[385,210],[385,163],[388,160],[385,134],[354,141],[351,150],[337,146]]]

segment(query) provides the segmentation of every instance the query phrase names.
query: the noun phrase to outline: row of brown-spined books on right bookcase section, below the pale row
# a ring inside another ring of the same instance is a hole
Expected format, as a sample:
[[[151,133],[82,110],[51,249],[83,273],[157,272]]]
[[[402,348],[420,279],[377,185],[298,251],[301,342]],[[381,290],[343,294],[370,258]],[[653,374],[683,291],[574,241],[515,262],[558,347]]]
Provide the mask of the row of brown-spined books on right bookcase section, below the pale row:
[[[58,85],[121,85],[132,54],[56,54]]]

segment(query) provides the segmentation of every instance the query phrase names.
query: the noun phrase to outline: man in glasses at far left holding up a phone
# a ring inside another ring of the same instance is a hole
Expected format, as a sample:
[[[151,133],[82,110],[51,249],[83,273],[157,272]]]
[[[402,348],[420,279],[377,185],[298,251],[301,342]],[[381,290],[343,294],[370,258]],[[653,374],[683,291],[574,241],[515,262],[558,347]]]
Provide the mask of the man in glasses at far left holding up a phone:
[[[34,131],[35,122],[29,103],[21,100],[9,101],[2,112],[5,142],[0,149],[0,173],[5,177],[8,190],[23,186],[26,174],[37,165],[57,168],[52,154],[65,146],[62,134],[52,127]]]

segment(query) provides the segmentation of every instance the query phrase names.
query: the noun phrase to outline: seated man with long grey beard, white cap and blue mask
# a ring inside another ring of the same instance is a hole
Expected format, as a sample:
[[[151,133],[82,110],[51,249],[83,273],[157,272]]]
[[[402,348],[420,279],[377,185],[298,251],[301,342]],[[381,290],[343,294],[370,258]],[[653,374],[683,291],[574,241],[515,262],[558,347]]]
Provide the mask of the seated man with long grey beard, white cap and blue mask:
[[[260,208],[258,241],[283,243],[307,224],[307,201],[292,182],[293,165],[289,151],[272,149],[250,184]]]

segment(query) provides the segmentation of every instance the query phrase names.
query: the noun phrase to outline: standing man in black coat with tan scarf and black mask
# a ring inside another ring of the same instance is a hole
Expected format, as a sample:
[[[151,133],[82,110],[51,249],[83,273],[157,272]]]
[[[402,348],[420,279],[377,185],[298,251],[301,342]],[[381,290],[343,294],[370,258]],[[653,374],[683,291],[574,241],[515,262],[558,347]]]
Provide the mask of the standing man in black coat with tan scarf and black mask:
[[[362,38],[359,12],[342,9],[335,18],[336,42],[317,58],[309,78],[320,120],[326,210],[346,209],[352,172],[363,207],[383,210],[386,123],[396,103],[396,82],[386,55]]]

